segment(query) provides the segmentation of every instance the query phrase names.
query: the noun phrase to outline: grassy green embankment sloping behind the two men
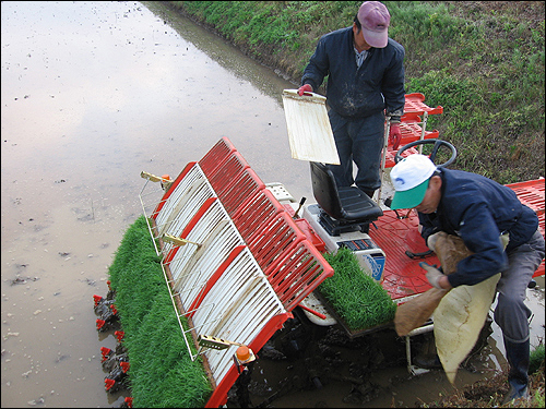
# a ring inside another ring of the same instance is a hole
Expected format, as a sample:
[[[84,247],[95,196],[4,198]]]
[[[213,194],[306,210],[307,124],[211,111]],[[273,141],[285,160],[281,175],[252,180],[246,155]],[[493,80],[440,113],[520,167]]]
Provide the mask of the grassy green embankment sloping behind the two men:
[[[299,83],[320,36],[352,25],[361,1],[169,3]],[[384,3],[406,93],[444,108],[427,129],[458,148],[451,167],[502,184],[544,177],[544,2]]]

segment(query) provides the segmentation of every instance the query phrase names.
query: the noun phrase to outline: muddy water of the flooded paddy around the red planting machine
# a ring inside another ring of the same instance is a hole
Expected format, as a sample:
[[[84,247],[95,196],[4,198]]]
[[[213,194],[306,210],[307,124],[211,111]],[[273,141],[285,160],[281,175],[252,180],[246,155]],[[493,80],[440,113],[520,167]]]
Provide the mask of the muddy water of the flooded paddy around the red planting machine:
[[[295,85],[140,2],[2,2],[1,44],[1,405],[117,406],[127,393],[105,393],[99,351],[116,339],[95,329],[93,294],[106,294],[114,253],[142,212],[140,172],[176,177],[228,136],[262,180],[312,197],[280,97]],[[544,290],[530,298],[536,344]],[[491,371],[503,363],[498,340]],[[297,365],[262,361],[262,385]],[[441,372],[407,378],[404,365],[375,376],[404,382],[365,406],[413,406],[450,388]],[[351,387],[333,381],[274,405],[360,406],[343,402]]]

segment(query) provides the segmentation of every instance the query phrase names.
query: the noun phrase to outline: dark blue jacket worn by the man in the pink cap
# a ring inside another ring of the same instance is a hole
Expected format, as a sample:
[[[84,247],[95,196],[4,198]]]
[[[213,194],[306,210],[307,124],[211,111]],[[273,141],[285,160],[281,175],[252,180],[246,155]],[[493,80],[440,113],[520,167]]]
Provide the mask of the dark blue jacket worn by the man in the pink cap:
[[[301,85],[317,91],[327,75],[327,101],[342,117],[368,117],[387,108],[388,115],[404,113],[404,55],[400,44],[389,38],[384,48],[370,48],[357,68],[353,28],[340,28],[322,36]]]

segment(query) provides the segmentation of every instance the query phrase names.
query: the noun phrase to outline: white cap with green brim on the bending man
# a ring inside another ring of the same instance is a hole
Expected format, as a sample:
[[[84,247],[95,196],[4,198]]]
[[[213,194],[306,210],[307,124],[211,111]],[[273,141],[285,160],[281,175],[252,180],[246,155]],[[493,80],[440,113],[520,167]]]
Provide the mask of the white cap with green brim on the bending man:
[[[418,206],[428,188],[428,181],[436,165],[426,155],[410,155],[399,161],[391,170],[394,197],[391,208],[413,208]]]

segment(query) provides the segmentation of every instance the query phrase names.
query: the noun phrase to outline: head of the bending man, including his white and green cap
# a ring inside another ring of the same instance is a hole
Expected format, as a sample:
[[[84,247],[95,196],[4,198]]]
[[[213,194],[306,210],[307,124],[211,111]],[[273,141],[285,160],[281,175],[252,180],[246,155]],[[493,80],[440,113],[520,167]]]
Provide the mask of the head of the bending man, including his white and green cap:
[[[436,165],[425,155],[410,155],[391,170],[394,197],[391,208],[413,208],[420,213],[436,212],[441,199],[441,177]]]

